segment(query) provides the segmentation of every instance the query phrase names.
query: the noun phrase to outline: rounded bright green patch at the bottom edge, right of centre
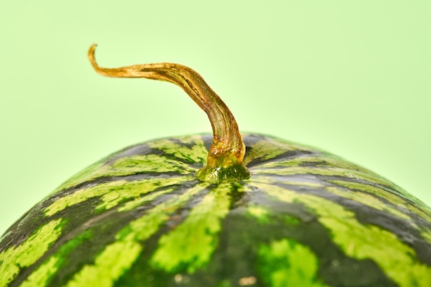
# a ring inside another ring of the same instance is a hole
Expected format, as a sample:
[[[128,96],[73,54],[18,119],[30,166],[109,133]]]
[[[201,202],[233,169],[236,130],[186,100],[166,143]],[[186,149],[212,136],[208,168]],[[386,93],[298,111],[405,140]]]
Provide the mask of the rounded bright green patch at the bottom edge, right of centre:
[[[267,286],[324,287],[317,279],[319,262],[310,248],[293,240],[262,245],[258,252],[258,269]]]

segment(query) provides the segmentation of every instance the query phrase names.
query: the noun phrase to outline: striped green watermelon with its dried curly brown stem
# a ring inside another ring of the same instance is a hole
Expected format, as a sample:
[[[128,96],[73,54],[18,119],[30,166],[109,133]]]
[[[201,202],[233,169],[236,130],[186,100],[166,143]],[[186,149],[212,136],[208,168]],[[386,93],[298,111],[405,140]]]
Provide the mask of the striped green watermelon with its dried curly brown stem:
[[[65,181],[0,239],[3,286],[431,286],[431,209],[325,151],[242,134],[193,70],[171,81],[213,134],[133,145]],[[203,96],[202,96],[203,94]]]

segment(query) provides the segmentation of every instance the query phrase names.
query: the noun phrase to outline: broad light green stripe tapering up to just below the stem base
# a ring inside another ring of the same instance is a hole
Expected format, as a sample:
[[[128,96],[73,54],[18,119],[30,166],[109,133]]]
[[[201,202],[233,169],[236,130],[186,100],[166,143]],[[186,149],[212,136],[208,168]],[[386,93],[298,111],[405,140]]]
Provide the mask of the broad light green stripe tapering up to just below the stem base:
[[[207,262],[218,244],[221,220],[229,213],[231,184],[219,184],[189,213],[187,219],[160,238],[152,264],[168,272],[187,266],[193,273]]]

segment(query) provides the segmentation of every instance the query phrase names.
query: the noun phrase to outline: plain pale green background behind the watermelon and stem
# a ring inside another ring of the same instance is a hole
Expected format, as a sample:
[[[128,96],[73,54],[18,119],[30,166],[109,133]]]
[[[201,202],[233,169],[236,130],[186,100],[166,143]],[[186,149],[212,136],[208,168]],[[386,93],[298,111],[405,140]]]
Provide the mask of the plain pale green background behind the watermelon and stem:
[[[127,145],[211,131],[170,83],[98,76],[197,70],[242,131],[326,149],[431,205],[430,1],[4,1],[0,233]]]

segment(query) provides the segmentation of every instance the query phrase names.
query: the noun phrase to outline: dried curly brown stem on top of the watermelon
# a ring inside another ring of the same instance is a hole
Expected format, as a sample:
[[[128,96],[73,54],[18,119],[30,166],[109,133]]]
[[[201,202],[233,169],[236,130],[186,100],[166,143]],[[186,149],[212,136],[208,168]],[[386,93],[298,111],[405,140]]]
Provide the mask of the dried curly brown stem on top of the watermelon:
[[[149,78],[180,86],[207,113],[213,129],[213,145],[207,164],[196,176],[207,182],[232,182],[249,178],[244,167],[245,146],[238,125],[227,105],[205,83],[200,74],[189,67],[173,63],[131,65],[117,68],[99,67],[94,58],[96,44],[88,50],[88,58],[98,74],[116,78]]]

